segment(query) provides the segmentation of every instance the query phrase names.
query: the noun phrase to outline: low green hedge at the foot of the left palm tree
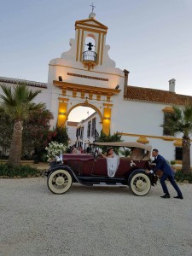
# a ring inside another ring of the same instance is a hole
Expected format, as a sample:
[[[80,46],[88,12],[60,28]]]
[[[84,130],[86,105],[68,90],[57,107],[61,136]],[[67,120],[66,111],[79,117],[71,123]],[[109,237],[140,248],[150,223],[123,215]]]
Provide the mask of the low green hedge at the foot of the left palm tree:
[[[9,166],[0,164],[0,177],[38,177],[41,171],[32,166]]]

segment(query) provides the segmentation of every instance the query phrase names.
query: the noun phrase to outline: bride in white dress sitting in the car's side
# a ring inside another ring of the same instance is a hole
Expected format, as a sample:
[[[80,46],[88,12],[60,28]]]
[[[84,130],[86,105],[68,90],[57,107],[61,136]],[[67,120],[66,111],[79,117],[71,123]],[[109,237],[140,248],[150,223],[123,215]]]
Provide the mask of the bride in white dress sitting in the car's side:
[[[119,155],[114,153],[113,148],[108,148],[107,154],[102,154],[102,156],[107,159],[108,177],[114,177],[119,166]]]

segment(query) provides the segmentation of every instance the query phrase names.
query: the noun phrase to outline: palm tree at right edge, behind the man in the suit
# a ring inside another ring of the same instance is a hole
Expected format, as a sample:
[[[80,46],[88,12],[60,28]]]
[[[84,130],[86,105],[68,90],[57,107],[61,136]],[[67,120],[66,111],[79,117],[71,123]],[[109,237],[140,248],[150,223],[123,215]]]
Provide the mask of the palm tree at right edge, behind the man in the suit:
[[[172,113],[166,113],[166,123],[160,125],[170,134],[183,133],[182,146],[183,146],[183,161],[182,172],[189,174],[190,169],[190,134],[192,133],[192,105],[185,103],[183,108],[173,106]]]

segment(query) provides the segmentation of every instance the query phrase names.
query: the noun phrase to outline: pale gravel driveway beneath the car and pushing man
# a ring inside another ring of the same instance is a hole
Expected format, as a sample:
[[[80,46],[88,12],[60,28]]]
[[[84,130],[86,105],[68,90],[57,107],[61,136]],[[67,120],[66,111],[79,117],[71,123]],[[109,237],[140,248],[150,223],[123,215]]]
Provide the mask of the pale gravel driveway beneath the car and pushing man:
[[[79,184],[54,195],[46,177],[0,179],[0,255],[191,256],[192,184],[179,186],[183,200],[161,199],[160,184],[144,197]]]

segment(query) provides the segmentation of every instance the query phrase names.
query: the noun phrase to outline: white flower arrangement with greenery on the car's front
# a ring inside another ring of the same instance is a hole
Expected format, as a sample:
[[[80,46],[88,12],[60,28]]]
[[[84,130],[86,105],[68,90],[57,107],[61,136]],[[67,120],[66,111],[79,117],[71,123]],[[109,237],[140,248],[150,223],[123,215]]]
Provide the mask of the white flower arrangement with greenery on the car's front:
[[[52,162],[53,160],[62,162],[62,154],[67,150],[67,146],[62,143],[51,142],[45,150],[47,150],[48,162]]]

